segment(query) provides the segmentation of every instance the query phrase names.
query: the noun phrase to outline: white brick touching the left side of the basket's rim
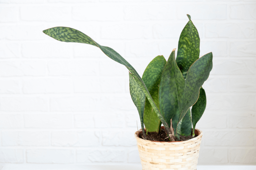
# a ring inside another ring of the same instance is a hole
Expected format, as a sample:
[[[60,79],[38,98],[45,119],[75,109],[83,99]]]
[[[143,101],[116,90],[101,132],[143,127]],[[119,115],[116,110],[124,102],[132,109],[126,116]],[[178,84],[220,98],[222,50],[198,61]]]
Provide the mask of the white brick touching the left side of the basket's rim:
[[[132,131],[103,131],[102,145],[103,146],[136,146],[136,139]]]

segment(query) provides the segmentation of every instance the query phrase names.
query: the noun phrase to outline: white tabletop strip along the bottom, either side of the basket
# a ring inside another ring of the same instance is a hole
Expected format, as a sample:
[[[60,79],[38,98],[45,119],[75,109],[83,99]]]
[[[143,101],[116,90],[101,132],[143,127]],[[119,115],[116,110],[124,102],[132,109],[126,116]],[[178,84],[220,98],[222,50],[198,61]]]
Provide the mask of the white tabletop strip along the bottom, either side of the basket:
[[[2,170],[141,170],[141,165],[45,165],[7,164]],[[197,170],[256,170],[256,166],[204,166]]]

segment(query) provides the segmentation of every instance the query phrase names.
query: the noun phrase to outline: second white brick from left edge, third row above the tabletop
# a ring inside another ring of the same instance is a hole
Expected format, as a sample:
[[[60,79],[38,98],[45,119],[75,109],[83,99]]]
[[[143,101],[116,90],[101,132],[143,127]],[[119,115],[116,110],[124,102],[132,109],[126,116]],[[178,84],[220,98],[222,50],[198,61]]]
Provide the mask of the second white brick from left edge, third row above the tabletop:
[[[26,114],[24,115],[25,128],[72,128],[73,115],[71,114]]]

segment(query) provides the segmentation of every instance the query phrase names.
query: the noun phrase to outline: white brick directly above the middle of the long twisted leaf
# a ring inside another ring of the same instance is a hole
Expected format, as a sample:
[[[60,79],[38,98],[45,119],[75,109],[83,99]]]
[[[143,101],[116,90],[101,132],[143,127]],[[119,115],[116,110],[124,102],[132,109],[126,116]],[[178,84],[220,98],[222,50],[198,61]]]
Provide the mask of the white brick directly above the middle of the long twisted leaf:
[[[101,28],[104,39],[140,39],[151,38],[152,26],[143,24],[111,24]]]

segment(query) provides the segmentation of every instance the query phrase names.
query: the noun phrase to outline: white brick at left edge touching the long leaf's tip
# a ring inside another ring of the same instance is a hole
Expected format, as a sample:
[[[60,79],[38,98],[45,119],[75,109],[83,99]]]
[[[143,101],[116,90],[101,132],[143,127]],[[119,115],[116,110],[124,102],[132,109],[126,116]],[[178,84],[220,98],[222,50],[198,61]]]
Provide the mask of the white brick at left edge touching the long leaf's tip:
[[[46,35],[42,32],[45,30],[44,25],[36,24],[16,24],[15,26],[0,26],[0,39],[7,40],[42,40]],[[30,50],[33,48],[30,48]],[[31,50],[33,51],[33,50]],[[38,53],[37,53],[38,54]]]

